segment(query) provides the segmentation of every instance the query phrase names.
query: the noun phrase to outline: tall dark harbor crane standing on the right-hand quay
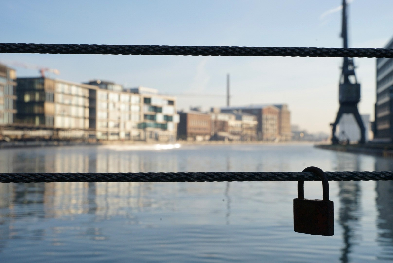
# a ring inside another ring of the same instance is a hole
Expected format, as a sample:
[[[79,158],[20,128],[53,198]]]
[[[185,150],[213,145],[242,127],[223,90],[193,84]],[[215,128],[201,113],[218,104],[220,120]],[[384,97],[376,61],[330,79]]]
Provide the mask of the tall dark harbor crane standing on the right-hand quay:
[[[348,47],[348,36],[347,36],[347,3],[343,0],[342,9],[342,33],[343,47]],[[338,109],[336,121],[331,124],[332,126],[332,144],[338,144],[339,141],[336,137],[336,126],[340,121],[344,113],[352,113],[360,128],[360,140],[359,143],[365,143],[365,129],[362,118],[360,117],[358,110],[358,103],[360,101],[360,84],[356,80],[355,66],[353,59],[344,57],[342,74],[340,79],[338,100],[340,102],[340,108]]]

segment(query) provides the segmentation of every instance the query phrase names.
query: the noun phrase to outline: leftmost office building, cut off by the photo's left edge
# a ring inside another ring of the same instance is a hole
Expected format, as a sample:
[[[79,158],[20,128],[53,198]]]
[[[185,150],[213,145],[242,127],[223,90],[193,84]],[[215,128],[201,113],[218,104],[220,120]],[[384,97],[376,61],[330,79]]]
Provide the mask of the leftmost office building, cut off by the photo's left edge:
[[[0,125],[12,124],[16,111],[15,70],[0,64]]]

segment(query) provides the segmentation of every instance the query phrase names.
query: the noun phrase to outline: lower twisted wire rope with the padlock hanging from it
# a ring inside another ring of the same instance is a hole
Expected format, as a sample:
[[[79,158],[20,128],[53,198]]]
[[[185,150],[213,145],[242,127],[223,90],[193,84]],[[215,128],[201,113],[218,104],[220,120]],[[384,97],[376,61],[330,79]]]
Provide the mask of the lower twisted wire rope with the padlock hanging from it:
[[[393,180],[393,172],[325,172],[329,181]],[[320,181],[313,172],[1,173],[1,183]]]

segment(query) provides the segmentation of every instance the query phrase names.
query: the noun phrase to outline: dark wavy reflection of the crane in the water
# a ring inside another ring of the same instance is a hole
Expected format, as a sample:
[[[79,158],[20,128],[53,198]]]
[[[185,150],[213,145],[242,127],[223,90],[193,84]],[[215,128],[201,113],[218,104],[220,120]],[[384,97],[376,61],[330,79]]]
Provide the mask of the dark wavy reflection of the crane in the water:
[[[338,171],[360,171],[360,156],[337,153]],[[338,181],[340,211],[340,225],[343,229],[343,247],[341,249],[340,261],[346,263],[350,261],[352,246],[358,239],[356,232],[360,232],[361,219],[361,189],[359,181]]]

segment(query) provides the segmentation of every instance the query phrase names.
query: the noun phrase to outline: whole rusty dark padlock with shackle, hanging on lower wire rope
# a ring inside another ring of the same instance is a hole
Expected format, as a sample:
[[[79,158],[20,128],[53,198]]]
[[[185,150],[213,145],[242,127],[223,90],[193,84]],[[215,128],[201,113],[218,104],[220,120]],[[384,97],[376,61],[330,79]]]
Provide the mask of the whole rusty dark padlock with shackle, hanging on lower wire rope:
[[[329,182],[325,172],[314,166],[303,172],[321,176],[323,200],[304,199],[304,181],[298,181],[298,198],[294,199],[294,230],[311,235],[334,235],[333,201],[329,201]]]

